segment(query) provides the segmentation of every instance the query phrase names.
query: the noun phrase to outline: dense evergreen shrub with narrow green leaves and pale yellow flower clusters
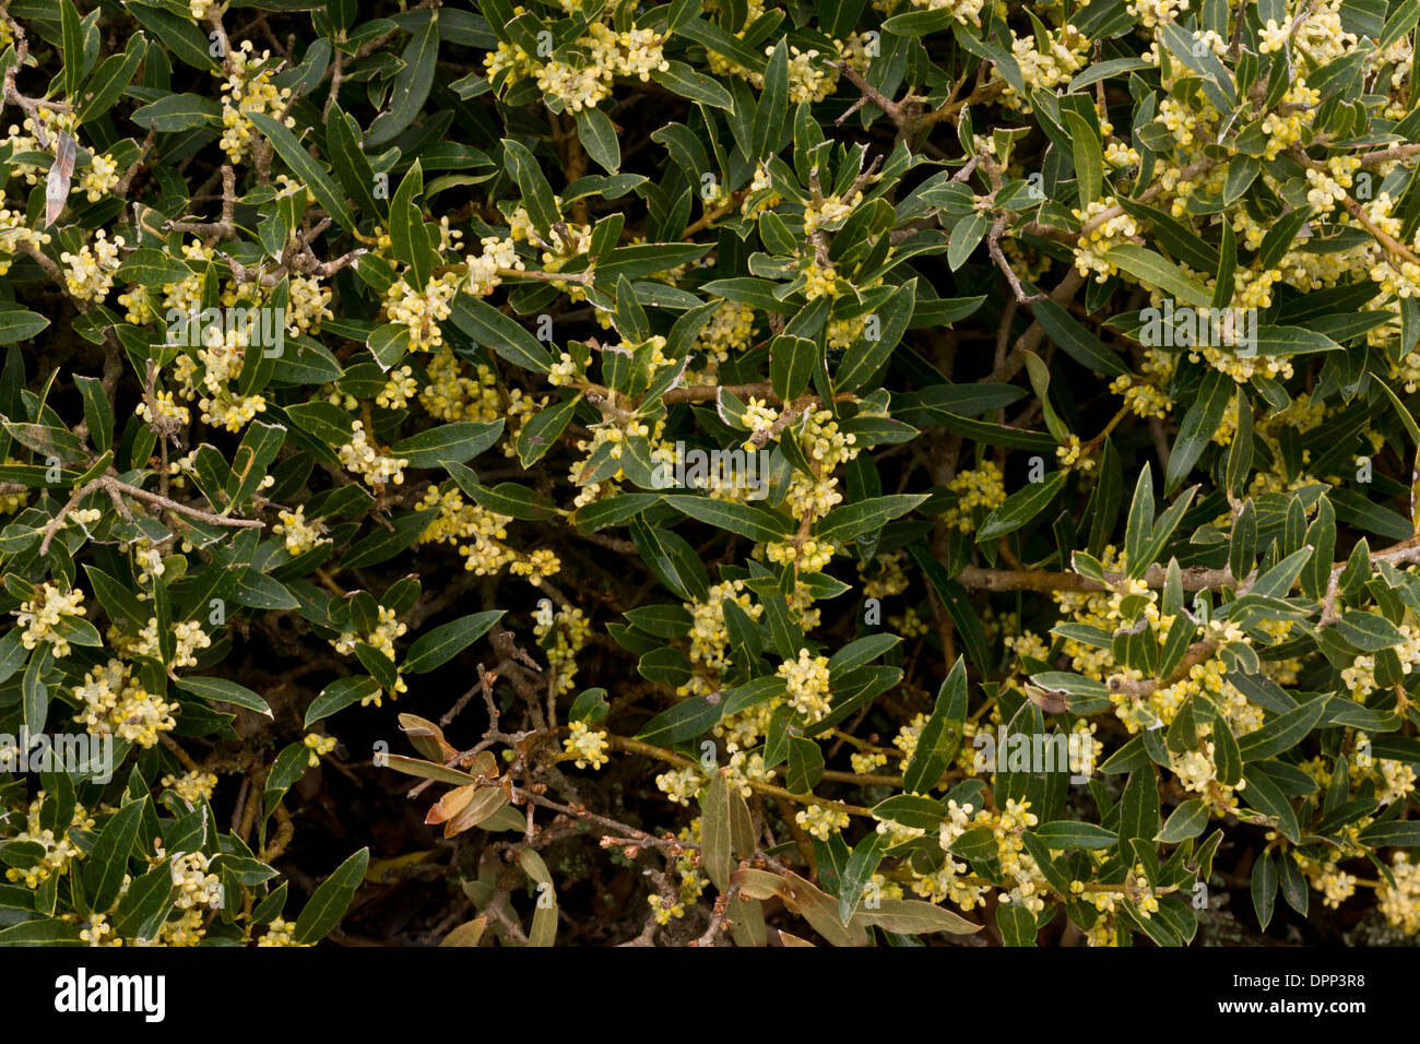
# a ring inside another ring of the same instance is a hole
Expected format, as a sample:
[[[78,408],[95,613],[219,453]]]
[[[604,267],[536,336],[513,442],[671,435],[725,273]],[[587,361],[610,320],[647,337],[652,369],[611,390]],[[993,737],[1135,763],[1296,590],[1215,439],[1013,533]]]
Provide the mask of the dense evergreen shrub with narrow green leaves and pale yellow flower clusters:
[[[0,4],[0,943],[1413,939],[1417,20]]]

